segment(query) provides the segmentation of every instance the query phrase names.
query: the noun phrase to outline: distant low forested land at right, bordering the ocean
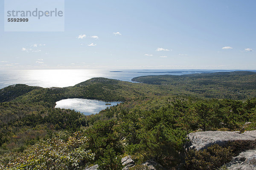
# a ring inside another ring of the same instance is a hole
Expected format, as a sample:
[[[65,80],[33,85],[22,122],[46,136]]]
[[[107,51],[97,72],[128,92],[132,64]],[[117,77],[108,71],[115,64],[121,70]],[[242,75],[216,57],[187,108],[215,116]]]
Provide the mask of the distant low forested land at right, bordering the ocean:
[[[216,72],[191,75],[141,76],[132,81],[157,84],[206,98],[246,99],[256,96],[255,72]]]

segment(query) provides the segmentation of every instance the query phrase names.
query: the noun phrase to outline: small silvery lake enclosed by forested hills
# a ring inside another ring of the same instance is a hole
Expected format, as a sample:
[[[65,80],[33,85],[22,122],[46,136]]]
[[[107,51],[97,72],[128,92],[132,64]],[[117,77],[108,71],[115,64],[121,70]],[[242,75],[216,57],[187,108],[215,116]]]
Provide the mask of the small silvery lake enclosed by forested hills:
[[[119,101],[105,102],[98,100],[82,99],[82,98],[69,98],[56,102],[55,108],[61,109],[74,109],[77,112],[81,112],[84,115],[91,115],[99,113],[101,110],[107,107],[117,105]],[[108,105],[106,105],[108,104]]]

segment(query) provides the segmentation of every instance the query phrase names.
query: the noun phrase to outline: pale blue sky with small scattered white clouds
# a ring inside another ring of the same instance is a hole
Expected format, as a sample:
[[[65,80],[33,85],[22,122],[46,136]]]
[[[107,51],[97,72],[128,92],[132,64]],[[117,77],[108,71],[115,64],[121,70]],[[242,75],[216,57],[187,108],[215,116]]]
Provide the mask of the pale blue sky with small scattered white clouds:
[[[0,0],[0,69],[255,70],[255,7],[255,0],[65,0],[64,32],[5,32]]]

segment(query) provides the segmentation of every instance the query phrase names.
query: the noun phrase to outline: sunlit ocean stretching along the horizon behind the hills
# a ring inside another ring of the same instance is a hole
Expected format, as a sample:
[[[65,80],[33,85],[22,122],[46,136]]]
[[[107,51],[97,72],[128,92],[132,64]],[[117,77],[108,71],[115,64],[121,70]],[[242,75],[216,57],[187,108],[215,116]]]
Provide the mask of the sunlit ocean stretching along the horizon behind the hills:
[[[178,70],[178,69],[45,69],[45,70],[1,70],[0,89],[13,84],[41,87],[74,86],[90,78],[104,77],[130,81],[143,75],[185,75],[204,72],[230,72],[238,70]],[[239,70],[242,71],[242,70]],[[244,71],[244,70],[243,70]],[[256,72],[256,70],[247,70]]]

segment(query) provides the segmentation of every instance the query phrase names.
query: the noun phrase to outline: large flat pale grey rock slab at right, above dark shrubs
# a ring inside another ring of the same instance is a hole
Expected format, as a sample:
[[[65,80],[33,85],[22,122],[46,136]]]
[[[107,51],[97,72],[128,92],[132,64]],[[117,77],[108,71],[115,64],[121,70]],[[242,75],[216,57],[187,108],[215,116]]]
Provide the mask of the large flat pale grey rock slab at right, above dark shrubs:
[[[190,149],[203,150],[213,144],[224,146],[228,141],[254,141],[256,139],[256,130],[246,131],[241,134],[229,131],[195,132],[189,133],[188,139],[190,141],[188,146]]]

